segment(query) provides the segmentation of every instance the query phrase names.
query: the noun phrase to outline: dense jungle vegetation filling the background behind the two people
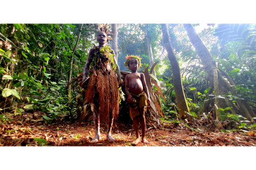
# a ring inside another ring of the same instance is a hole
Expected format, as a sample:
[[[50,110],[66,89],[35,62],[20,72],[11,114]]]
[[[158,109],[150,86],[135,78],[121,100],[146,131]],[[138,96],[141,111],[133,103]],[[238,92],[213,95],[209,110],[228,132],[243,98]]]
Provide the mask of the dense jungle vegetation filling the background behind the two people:
[[[189,26],[167,24],[189,109],[184,115],[177,107],[173,66],[164,45],[163,25],[117,24],[117,61],[121,71],[128,71],[124,67],[126,55],[140,55],[145,67],[158,62],[155,76],[166,99],[160,96],[162,121],[179,121],[183,116],[210,117],[217,126],[224,127],[223,131],[254,128],[256,25],[192,24],[197,31],[195,36],[198,34],[210,52],[211,58],[207,59],[202,58],[208,54],[200,53],[203,47],[197,47],[198,41],[194,44]],[[88,51],[93,44],[97,45],[97,30],[97,24],[1,23],[0,123],[6,123],[11,115],[33,111],[41,111],[45,123],[59,118],[75,121],[79,84],[73,83],[70,89],[68,84],[82,73]],[[207,65],[205,60],[210,63],[210,59],[215,64]],[[144,67],[139,71],[143,70]]]

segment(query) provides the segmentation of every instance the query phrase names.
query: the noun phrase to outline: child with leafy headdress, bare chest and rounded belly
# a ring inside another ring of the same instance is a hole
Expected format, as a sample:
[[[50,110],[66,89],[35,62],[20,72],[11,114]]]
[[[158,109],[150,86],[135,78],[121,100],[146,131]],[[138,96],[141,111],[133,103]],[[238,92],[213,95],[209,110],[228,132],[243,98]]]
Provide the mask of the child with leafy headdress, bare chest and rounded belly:
[[[137,55],[129,55],[126,57],[124,63],[126,67],[132,71],[131,74],[126,76],[126,94],[128,95],[128,103],[130,105],[130,118],[134,123],[134,129],[137,139],[132,142],[137,145],[141,142],[139,134],[138,121],[142,126],[142,142],[148,144],[145,137],[146,132],[146,120],[145,120],[145,106],[150,105],[150,95],[148,94],[148,87],[145,82],[145,76],[143,73],[137,73],[137,70],[141,66],[141,59]],[[147,95],[147,102],[145,99],[145,93]]]

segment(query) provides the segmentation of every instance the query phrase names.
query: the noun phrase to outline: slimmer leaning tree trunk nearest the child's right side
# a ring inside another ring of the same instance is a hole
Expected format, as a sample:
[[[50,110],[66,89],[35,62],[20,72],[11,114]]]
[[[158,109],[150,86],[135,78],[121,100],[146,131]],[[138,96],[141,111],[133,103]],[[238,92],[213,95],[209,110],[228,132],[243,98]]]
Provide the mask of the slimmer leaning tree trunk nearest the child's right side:
[[[189,112],[189,107],[187,106],[187,100],[182,86],[181,71],[179,69],[179,63],[177,62],[173,47],[171,46],[167,25],[161,24],[161,27],[163,31],[164,46],[168,53],[168,58],[171,62],[171,69],[173,71],[173,85],[177,100],[177,107],[181,109],[179,110],[179,116],[183,119],[186,113]]]

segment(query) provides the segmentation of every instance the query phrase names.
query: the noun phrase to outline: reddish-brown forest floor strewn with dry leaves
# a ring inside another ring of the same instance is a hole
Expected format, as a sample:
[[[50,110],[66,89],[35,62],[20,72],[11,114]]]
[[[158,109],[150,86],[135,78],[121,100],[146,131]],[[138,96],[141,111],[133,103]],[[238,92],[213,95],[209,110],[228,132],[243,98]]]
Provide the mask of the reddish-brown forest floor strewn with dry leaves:
[[[196,130],[183,122],[165,122],[161,128],[149,127],[146,131],[150,144],[140,143],[140,147],[178,146],[256,146],[255,132],[242,131],[211,132]],[[209,128],[210,129],[210,128]],[[140,133],[141,134],[141,133]],[[45,139],[46,146],[133,146],[135,132],[132,125],[114,123],[112,136],[116,142],[106,140],[106,125],[101,124],[101,139],[90,143],[95,136],[93,123],[71,123],[56,121],[44,123],[32,113],[12,115],[0,124],[0,146],[40,146],[33,138]],[[40,142],[39,142],[40,143]]]

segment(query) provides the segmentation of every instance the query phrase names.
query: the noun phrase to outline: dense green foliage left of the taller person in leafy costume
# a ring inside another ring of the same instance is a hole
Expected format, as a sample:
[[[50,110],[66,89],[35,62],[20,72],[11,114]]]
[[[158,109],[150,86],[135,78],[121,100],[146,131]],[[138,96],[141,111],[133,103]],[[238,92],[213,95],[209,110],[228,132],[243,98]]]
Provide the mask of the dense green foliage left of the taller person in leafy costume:
[[[25,102],[25,109],[41,110],[46,121],[75,113],[75,100],[69,101],[66,85],[79,25],[1,24],[0,36],[8,38],[11,48],[1,46],[1,96]],[[12,28],[15,28],[11,35]],[[85,24],[75,51],[72,77],[82,72],[96,25]],[[6,39],[4,38],[4,39]],[[85,50],[86,49],[86,50]],[[7,68],[9,65],[9,68]],[[15,66],[15,67],[14,67]],[[78,92],[72,84],[72,98]],[[22,98],[22,99],[21,99]],[[3,99],[4,100],[4,99]],[[9,101],[9,100],[8,100]],[[7,103],[12,105],[12,103]],[[2,107],[2,106],[0,106]],[[19,109],[18,109],[19,111]],[[76,113],[75,113],[76,114]]]

